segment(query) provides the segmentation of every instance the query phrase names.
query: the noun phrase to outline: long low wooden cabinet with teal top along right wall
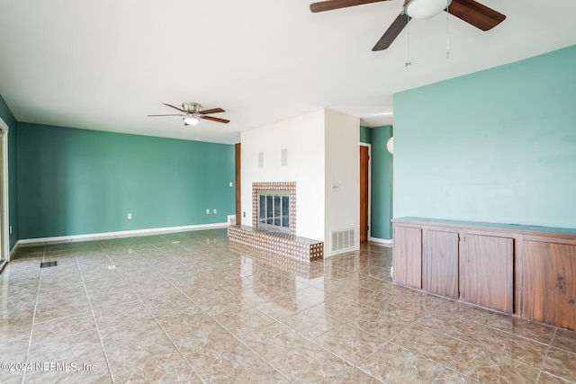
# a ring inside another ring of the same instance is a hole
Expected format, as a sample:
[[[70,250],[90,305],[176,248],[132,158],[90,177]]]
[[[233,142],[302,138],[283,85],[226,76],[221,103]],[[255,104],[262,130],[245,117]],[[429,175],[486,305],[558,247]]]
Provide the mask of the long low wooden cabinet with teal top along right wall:
[[[576,329],[576,229],[393,219],[393,281]]]

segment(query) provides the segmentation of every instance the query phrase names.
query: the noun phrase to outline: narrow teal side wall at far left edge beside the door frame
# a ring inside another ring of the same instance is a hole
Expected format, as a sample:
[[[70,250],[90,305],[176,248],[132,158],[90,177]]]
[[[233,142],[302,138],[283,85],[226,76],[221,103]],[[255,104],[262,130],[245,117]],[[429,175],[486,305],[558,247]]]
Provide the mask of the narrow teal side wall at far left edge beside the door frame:
[[[18,241],[18,183],[16,166],[16,138],[18,137],[17,122],[8,109],[4,98],[0,95],[0,118],[8,125],[8,215],[9,225],[12,226],[10,234],[10,249]]]

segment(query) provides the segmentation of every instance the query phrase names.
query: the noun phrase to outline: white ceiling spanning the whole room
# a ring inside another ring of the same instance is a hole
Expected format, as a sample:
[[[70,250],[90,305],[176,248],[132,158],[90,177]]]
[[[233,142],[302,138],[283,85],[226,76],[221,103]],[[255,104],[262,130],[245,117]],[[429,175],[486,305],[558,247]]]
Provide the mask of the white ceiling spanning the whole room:
[[[480,2],[507,19],[485,32],[446,13],[412,20],[405,67],[408,29],[371,50],[401,0],[325,13],[310,0],[0,0],[0,94],[18,121],[232,144],[322,107],[389,124],[393,93],[576,44],[574,0]],[[183,102],[231,122],[146,117]]]

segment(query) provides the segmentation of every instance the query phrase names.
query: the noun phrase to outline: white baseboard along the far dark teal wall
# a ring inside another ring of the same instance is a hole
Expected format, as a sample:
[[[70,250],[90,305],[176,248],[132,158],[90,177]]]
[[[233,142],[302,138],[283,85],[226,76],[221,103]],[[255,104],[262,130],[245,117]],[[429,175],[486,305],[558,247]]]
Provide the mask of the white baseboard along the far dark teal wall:
[[[73,236],[59,236],[59,237],[39,237],[39,238],[24,238],[18,240],[10,255],[14,253],[18,246],[37,246],[55,243],[72,243],[76,241],[88,241],[106,238],[121,238],[121,237],[138,237],[138,236],[150,236],[150,235],[163,235],[166,233],[175,232],[186,232],[193,230],[202,229],[214,229],[214,228],[227,228],[229,223],[215,223],[215,224],[199,224],[193,226],[181,226],[181,227],[166,227],[166,228],[148,228],[148,229],[133,229],[118,232],[105,232],[105,233],[94,233],[87,235],[73,235]]]

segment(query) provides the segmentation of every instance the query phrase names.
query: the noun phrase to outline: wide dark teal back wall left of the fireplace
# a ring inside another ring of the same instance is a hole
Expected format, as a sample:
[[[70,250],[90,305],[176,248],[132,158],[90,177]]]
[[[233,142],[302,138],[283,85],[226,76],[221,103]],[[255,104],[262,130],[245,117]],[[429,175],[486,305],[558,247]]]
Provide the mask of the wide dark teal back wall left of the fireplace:
[[[22,239],[221,223],[235,210],[229,145],[19,123],[18,174]]]

